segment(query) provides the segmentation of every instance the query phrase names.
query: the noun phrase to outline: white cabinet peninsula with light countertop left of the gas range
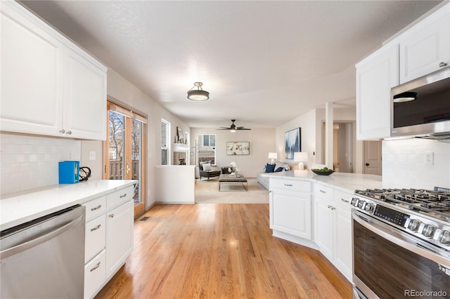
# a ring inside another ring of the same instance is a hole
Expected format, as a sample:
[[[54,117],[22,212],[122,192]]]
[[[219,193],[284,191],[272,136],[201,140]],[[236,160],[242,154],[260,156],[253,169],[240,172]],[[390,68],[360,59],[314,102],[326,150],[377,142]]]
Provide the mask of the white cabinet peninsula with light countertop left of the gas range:
[[[380,175],[311,171],[264,173],[269,177],[270,227],[274,237],[314,248],[352,281],[354,190],[393,187]],[[396,186],[398,187],[398,185]]]

